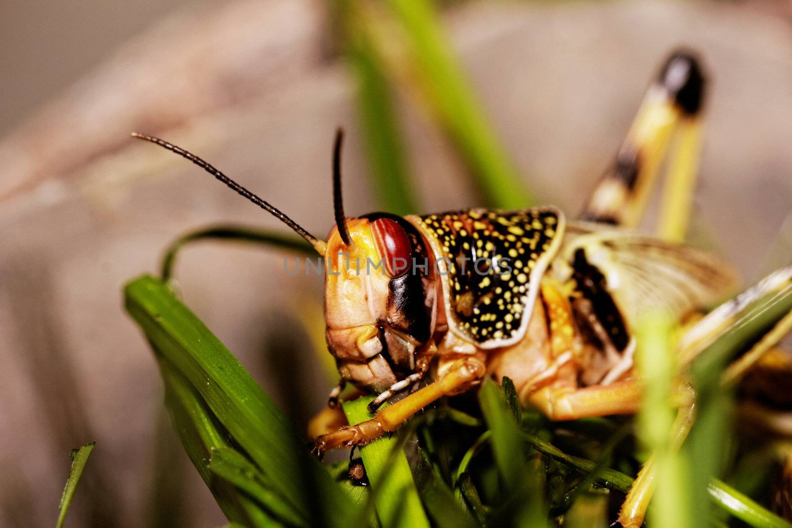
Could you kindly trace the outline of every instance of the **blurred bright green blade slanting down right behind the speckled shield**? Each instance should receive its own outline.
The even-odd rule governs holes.
[[[516,208],[534,203],[457,63],[432,2],[387,3],[404,30],[419,82],[488,205]]]

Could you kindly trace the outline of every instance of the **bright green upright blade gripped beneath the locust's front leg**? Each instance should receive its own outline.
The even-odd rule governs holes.
[[[359,424],[374,417],[367,409],[373,399],[360,397],[343,402],[350,424]],[[363,458],[377,514],[383,526],[428,528],[429,520],[398,437],[386,437],[361,447],[360,458]]]

